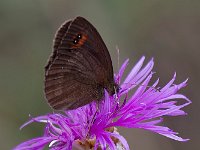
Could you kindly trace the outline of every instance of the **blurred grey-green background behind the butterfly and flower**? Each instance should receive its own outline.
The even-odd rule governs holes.
[[[192,101],[188,116],[164,124],[191,141],[180,143],[138,130],[121,129],[131,150],[196,150],[200,147],[200,1],[199,0],[1,0],[0,1],[0,150],[42,134],[43,125],[20,125],[52,110],[44,99],[44,66],[57,28],[81,15],[100,32],[117,70],[127,57],[132,66],[142,55],[155,58],[163,85],[176,71],[181,92]]]

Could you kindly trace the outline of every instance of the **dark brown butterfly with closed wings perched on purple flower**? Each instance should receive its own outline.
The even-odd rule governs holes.
[[[56,110],[70,110],[93,100],[104,89],[118,91],[110,54],[95,27],[83,17],[65,22],[57,31],[53,54],[45,67],[45,95]]]

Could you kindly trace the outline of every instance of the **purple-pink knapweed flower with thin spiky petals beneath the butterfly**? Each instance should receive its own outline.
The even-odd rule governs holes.
[[[187,141],[179,137],[177,132],[161,126],[164,116],[179,116],[186,113],[181,108],[191,102],[178,91],[186,86],[186,81],[174,84],[176,74],[169,83],[157,88],[159,80],[149,84],[153,72],[153,59],[143,66],[144,57],[133,67],[121,83],[122,75],[128,64],[126,60],[115,75],[120,90],[114,96],[105,91],[100,104],[92,102],[76,110],[53,113],[32,118],[22,127],[32,123],[45,124],[44,134],[26,141],[15,150],[43,149],[51,150],[94,149],[94,150],[129,150],[126,139],[120,135],[116,127],[141,128],[177,141]],[[133,94],[130,91],[135,89]],[[185,102],[178,105],[178,99]]]

